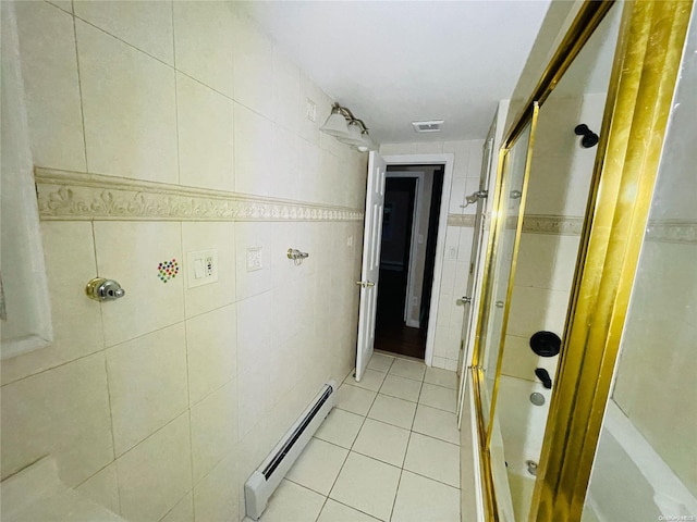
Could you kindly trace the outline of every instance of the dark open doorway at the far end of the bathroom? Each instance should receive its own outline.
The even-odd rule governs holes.
[[[388,165],[376,349],[426,359],[444,166]]]

